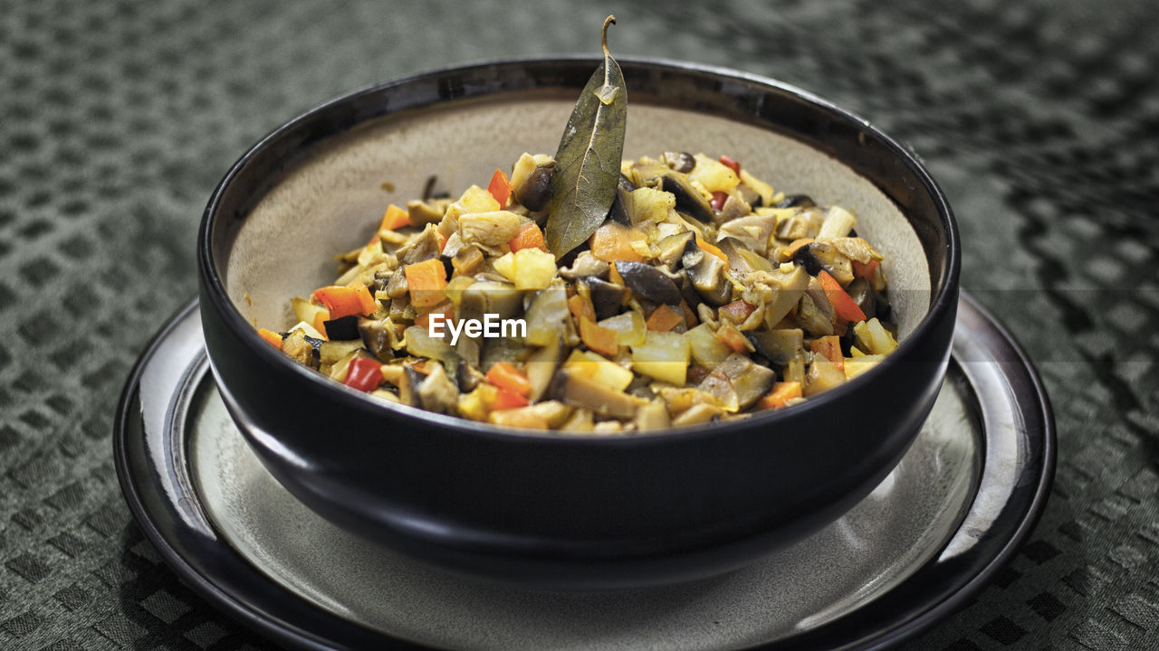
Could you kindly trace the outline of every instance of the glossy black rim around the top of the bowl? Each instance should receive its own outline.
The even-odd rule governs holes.
[[[436,414],[433,411],[428,411],[418,407],[406,405],[401,403],[389,403],[385,401],[377,401],[363,392],[358,392],[340,382],[335,382],[330,378],[326,378],[318,373],[316,371],[297,364],[280,352],[270,349],[270,345],[265,343],[261,336],[257,334],[250,324],[246,321],[239,309],[235,307],[233,301],[229,299],[228,293],[225,290],[225,284],[223,281],[223,276],[218,271],[218,261],[213,255],[213,241],[212,235],[216,229],[217,222],[223,220],[224,217],[220,215],[220,205],[224,202],[226,192],[231,189],[234,181],[241,175],[241,173],[258,159],[263,152],[271,147],[279,139],[287,137],[293,133],[294,130],[302,124],[309,122],[311,119],[318,117],[327,111],[335,110],[343,104],[355,101],[360,97],[372,96],[378,93],[392,88],[400,88],[424,80],[439,79],[450,74],[467,74],[471,72],[478,72],[486,68],[494,67],[520,67],[529,65],[575,65],[581,63],[590,63],[593,67],[599,65],[602,59],[595,56],[588,54],[563,54],[563,56],[530,56],[530,57],[511,57],[511,58],[500,58],[500,59],[484,59],[478,61],[468,61],[461,64],[453,64],[449,66],[440,66],[427,71],[421,71],[411,73],[408,75],[388,79],[385,81],[379,81],[356,88],[353,90],[337,95],[330,100],[318,104],[294,118],[283,123],[278,127],[274,129],[264,137],[258,139],[253,146],[250,146],[228,169],[228,171],[223,176],[221,181],[214,186],[213,192],[206,203],[205,210],[202,213],[201,225],[197,231],[197,268],[198,277],[204,290],[204,295],[210,299],[212,308],[217,310],[219,317],[225,323],[225,326],[232,331],[233,335],[239,336],[242,342],[249,344],[252,349],[256,350],[258,358],[264,358],[267,363],[274,364],[275,366],[280,365],[282,368],[290,373],[297,373],[298,378],[305,379],[306,382],[314,383],[315,390],[321,392],[333,392],[333,398],[344,407],[364,410],[367,407],[373,409],[385,409],[392,412],[393,416],[402,418],[417,418],[420,422],[425,422],[429,425],[455,430],[460,433],[469,433],[472,436],[483,436],[487,438],[496,438],[502,440],[517,439],[522,441],[527,441],[534,439],[537,441],[559,441],[557,445],[599,445],[599,446],[637,446],[637,445],[651,445],[657,440],[669,440],[669,439],[699,439],[701,437],[717,437],[726,433],[736,433],[742,430],[751,430],[755,426],[760,429],[775,427],[779,423],[786,420],[793,420],[796,418],[808,417],[807,415],[814,410],[831,409],[834,403],[843,400],[846,394],[857,389],[858,387],[866,386],[868,382],[874,381],[881,374],[885,372],[888,367],[896,366],[899,364],[901,359],[904,359],[906,353],[919,345],[919,341],[931,336],[931,332],[936,327],[936,321],[940,321],[947,310],[956,308],[957,293],[958,293],[958,279],[961,273],[961,242],[958,239],[957,224],[954,219],[953,210],[949,206],[945,193],[941,188],[934,181],[933,176],[926,169],[925,164],[918,156],[917,152],[912,147],[907,147],[874,126],[868,119],[865,119],[852,111],[839,107],[838,104],[821,97],[814,93],[799,88],[794,85],[778,81],[775,79],[758,75],[744,71],[738,71],[734,68],[728,68],[723,66],[705,65],[692,61],[666,59],[666,58],[651,58],[651,57],[624,57],[618,58],[617,61],[620,64],[621,68],[637,67],[647,70],[657,70],[664,72],[679,73],[685,75],[701,75],[701,76],[713,76],[728,81],[738,81],[748,85],[756,85],[759,87],[765,87],[766,89],[779,92],[821,110],[828,117],[841,122],[845,124],[853,125],[855,129],[877,140],[882,146],[884,146],[894,156],[897,158],[911,174],[920,182],[920,189],[924,190],[931,198],[938,215],[941,219],[941,226],[945,232],[946,240],[946,262],[941,265],[941,272],[936,277],[931,275],[931,280],[934,283],[931,286],[933,295],[930,301],[930,307],[921,320],[914,327],[913,331],[905,337],[905,339],[898,342],[898,348],[892,353],[887,356],[884,360],[869,368],[865,373],[841,383],[838,387],[828,389],[816,396],[812,396],[801,404],[795,404],[786,409],[766,410],[764,412],[751,412],[746,417],[730,418],[713,423],[701,423],[693,425],[677,425],[668,426],[657,430],[646,430],[633,432],[628,436],[608,436],[608,434],[597,434],[591,432],[560,432],[559,430],[533,430],[533,429],[520,429],[520,427],[509,427],[494,425],[491,423],[482,423],[476,420],[471,420],[468,418],[462,418],[459,416],[449,416],[444,414]],[[562,86],[555,85],[549,87]],[[577,89],[578,90],[578,89]],[[363,124],[370,120],[378,120],[388,118],[400,111],[415,110],[422,107],[439,104],[443,102],[457,102],[464,100],[478,100],[487,97],[496,97],[504,93],[526,93],[527,89],[498,89],[498,90],[483,90],[480,93],[466,93],[460,96],[452,98],[437,100],[430,103],[423,103],[418,105],[404,105],[399,109],[388,109],[385,112],[376,114],[372,116],[358,117],[355,124]],[[687,109],[686,109],[687,110]],[[735,119],[731,116],[724,116]],[[767,126],[766,126],[767,127]],[[343,133],[344,131],[335,131],[326,136],[326,138],[333,138]],[[807,140],[794,137],[792,133],[780,132],[780,134],[792,138],[797,142],[806,146],[815,146]],[[838,162],[844,161],[833,156]],[[859,175],[860,176],[860,175]],[[872,182],[870,182],[872,183]],[[877,186],[874,184],[874,186]],[[887,195],[887,198],[888,195]],[[892,199],[891,199],[892,200]],[[901,209],[899,209],[901,210]],[[903,211],[904,214],[904,211]],[[203,307],[204,309],[204,307]],[[948,357],[948,344],[947,344],[947,357]],[[210,366],[213,371],[216,378],[220,378],[217,371],[217,366],[213,363],[212,356],[209,356]],[[219,382],[220,383],[220,382]],[[223,387],[224,390],[228,390]]]

